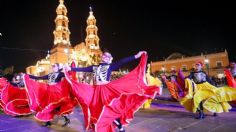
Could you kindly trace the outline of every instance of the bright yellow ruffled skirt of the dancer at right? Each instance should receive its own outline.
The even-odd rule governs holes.
[[[193,113],[201,102],[205,111],[228,112],[232,108],[228,101],[236,100],[236,89],[231,87],[217,88],[208,82],[195,84],[190,79],[185,79],[185,87],[188,88],[188,94],[180,100],[180,104]]]

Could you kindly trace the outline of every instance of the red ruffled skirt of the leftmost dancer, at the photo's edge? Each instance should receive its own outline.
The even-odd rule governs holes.
[[[1,105],[8,115],[29,115],[31,110],[28,105],[28,97],[24,88],[19,88],[7,83],[2,89]]]

